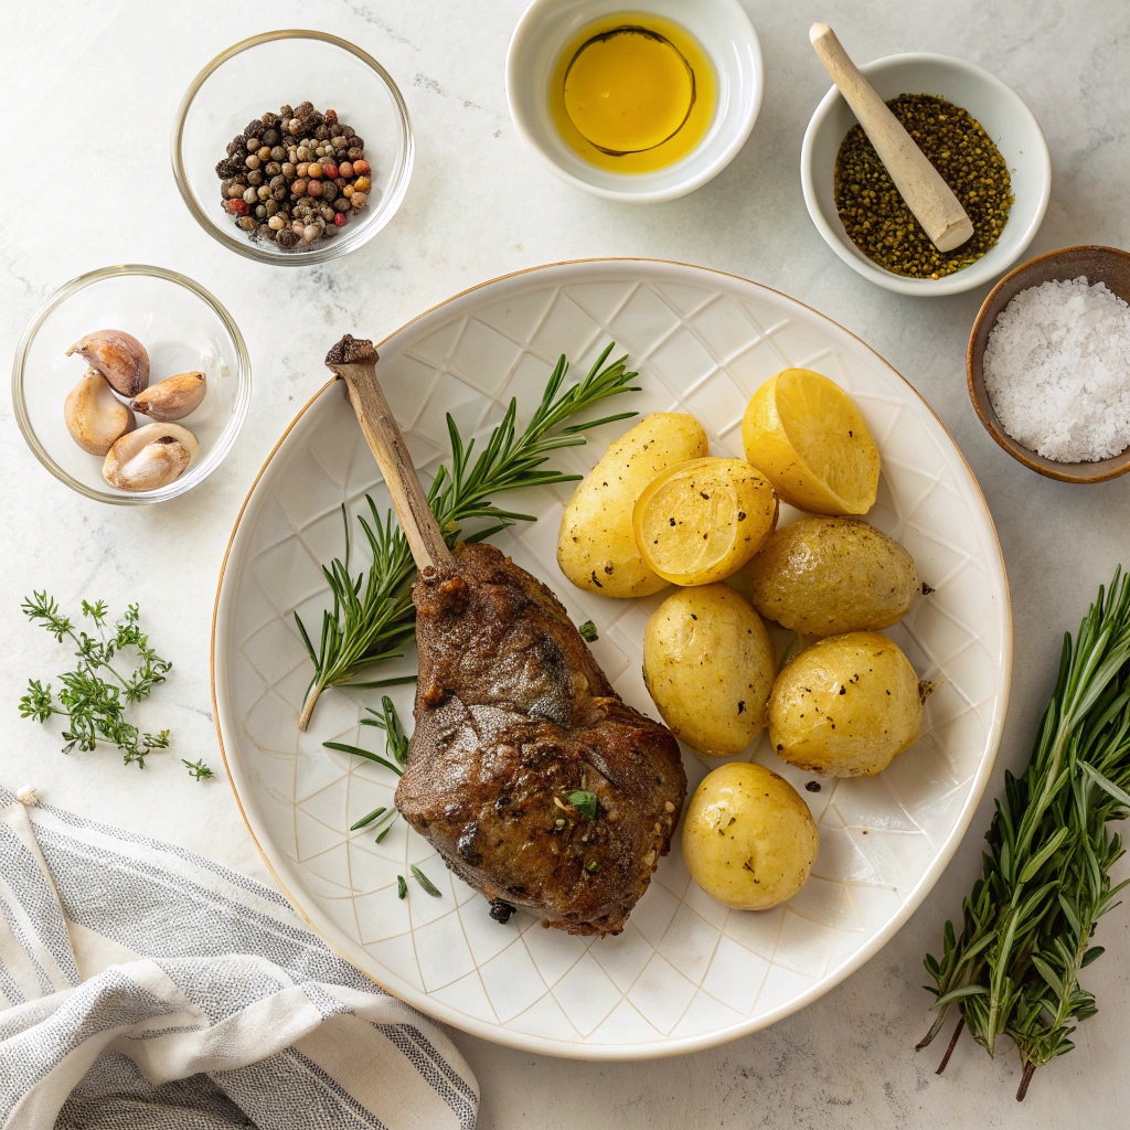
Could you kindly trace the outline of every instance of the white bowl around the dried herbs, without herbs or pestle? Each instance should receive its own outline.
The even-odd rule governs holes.
[[[836,212],[836,154],[855,115],[832,87],[816,107],[800,154],[805,203],[816,229],[849,267],[888,290],[933,297],[972,290],[1008,270],[1032,242],[1048,208],[1052,164],[1035,115],[1020,96],[986,70],[946,55],[888,55],[860,67],[883,98],[933,94],[967,110],[988,131],[1008,164],[1016,202],[994,246],[964,270],[940,279],[912,279],[873,263],[847,237]]]

